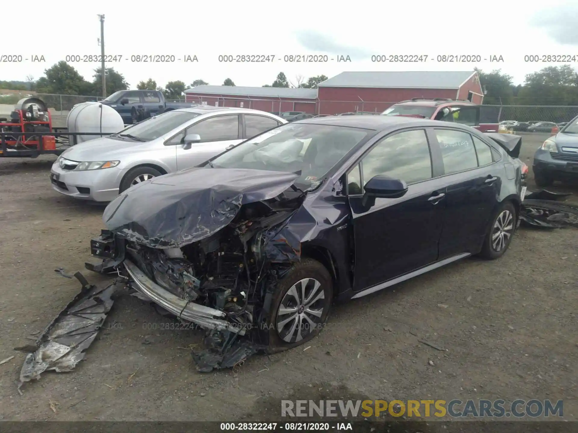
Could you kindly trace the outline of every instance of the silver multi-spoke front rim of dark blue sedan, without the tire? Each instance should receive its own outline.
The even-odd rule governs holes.
[[[277,309],[277,334],[287,343],[301,341],[320,326],[326,305],[320,282],[313,278],[296,282]]]

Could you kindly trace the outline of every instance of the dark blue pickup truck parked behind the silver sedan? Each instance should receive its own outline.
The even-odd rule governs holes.
[[[165,111],[195,106],[192,102],[166,102],[158,90],[119,90],[100,102],[115,109],[126,125]]]

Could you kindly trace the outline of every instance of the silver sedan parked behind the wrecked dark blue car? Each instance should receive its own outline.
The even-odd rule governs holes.
[[[194,167],[287,121],[265,111],[197,107],[167,111],[116,134],[72,146],[50,170],[55,191],[111,201],[162,174]]]

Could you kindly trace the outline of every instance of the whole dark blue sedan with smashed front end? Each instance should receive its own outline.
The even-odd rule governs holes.
[[[411,117],[281,125],[122,193],[87,267],[206,329],[198,369],[232,367],[309,341],[336,300],[501,256],[525,194],[520,146]]]

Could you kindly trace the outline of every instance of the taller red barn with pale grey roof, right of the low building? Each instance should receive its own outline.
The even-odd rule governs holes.
[[[318,114],[350,111],[381,113],[396,102],[412,98],[484,98],[476,72],[342,72],[318,87]]]

